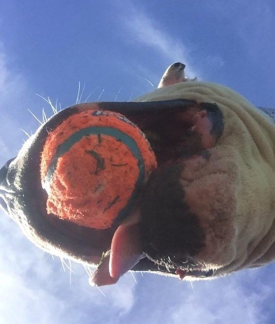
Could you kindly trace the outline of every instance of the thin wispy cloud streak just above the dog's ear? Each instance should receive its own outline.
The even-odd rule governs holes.
[[[200,77],[200,72],[192,63],[191,49],[182,39],[169,34],[153,15],[148,15],[142,5],[132,1],[123,1],[123,4],[114,4],[120,16],[120,22],[125,41],[140,45],[140,48],[150,48],[152,56],[156,56],[159,68],[163,72],[168,65],[174,62],[182,62],[186,65],[185,73],[188,77]],[[150,81],[155,80],[156,72],[150,71],[150,67],[142,67],[140,62],[136,64],[137,71],[143,72]],[[162,70],[161,70],[162,71]],[[144,73],[145,72],[145,73]],[[159,73],[159,71],[157,71]],[[151,78],[152,76],[152,78]],[[161,75],[158,76],[157,84]]]

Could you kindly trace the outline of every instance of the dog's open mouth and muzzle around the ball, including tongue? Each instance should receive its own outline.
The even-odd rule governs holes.
[[[205,270],[184,256],[178,261],[173,252],[164,258],[152,257],[147,251],[152,242],[150,238],[144,239],[148,235],[142,233],[147,232],[144,209],[140,215],[136,208],[119,226],[106,230],[86,228],[47,215],[47,196],[41,188],[39,174],[40,154],[47,134],[68,116],[95,108],[118,111],[137,124],[146,134],[159,167],[177,164],[182,158],[214,146],[223,128],[216,105],[184,99],[82,104],[64,109],[40,127],[15,160],[0,169],[0,205],[42,249],[79,262],[99,264],[93,278],[97,285],[115,283],[128,270],[174,273],[181,279],[212,276],[214,270]]]

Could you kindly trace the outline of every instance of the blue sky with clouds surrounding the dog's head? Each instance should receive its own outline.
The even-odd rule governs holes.
[[[36,93],[65,108],[79,81],[82,101],[129,101],[181,61],[187,76],[275,108],[274,31],[273,0],[2,0],[0,165],[26,139],[21,129],[39,126],[28,109],[51,115]],[[0,323],[275,322],[275,264],[193,286],[128,273],[99,291],[83,267],[39,251],[0,214]]]

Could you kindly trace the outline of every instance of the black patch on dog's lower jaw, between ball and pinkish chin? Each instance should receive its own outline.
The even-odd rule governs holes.
[[[154,170],[141,200],[143,250],[158,263],[169,258],[174,262],[190,259],[204,246],[198,219],[184,202],[180,183],[183,167],[174,164]]]

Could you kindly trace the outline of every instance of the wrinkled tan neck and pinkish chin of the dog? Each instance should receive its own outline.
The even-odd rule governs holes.
[[[180,82],[137,101],[176,98],[216,103],[224,117],[209,161],[200,166],[198,161],[196,170],[190,163],[182,174],[186,202],[207,233],[198,260],[221,274],[274,260],[274,123],[234,90],[215,83]]]

